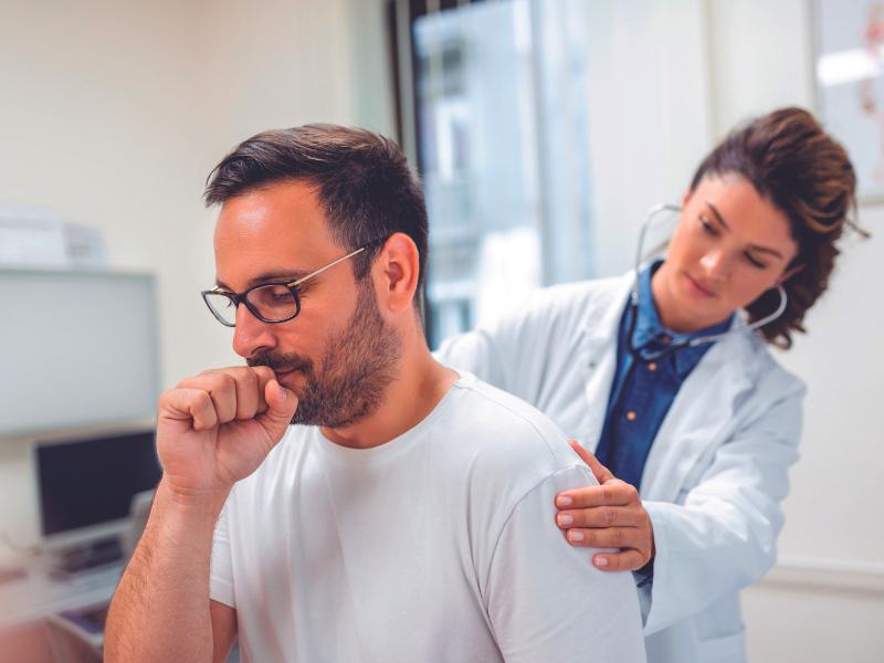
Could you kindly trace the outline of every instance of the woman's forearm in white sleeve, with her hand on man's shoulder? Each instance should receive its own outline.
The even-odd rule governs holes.
[[[568,536],[572,545],[623,549],[596,555],[596,566],[638,570],[650,560],[636,578],[645,634],[757,582],[775,564],[787,472],[798,460],[802,393],[774,403],[725,442],[683,504],[628,499],[634,491],[623,490],[630,486],[594,457],[585,460],[610,490],[592,486],[557,496],[559,526],[583,535]],[[572,520],[562,523],[562,515]],[[600,558],[607,567],[598,565]]]

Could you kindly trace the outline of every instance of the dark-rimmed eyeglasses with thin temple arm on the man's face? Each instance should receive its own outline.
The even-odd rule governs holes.
[[[203,302],[212,312],[215,319],[225,327],[236,326],[236,308],[240,304],[245,304],[245,307],[260,319],[262,323],[285,323],[292,318],[297,317],[301,313],[301,297],[297,294],[298,287],[305,281],[318,276],[326,270],[330,270],[336,264],[358,255],[362,251],[381,243],[383,240],[370,242],[357,249],[352,253],[332,261],[324,267],[319,267],[315,272],[311,272],[306,276],[297,281],[271,281],[269,283],[259,283],[253,285],[246,291],[241,293],[229,293],[218,287],[210,291],[202,291]]]

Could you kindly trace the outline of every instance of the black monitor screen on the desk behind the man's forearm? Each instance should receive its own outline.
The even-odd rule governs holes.
[[[159,482],[154,431],[41,443],[36,473],[43,536],[120,520]]]

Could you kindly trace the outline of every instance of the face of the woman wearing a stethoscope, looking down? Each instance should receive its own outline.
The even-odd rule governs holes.
[[[652,290],[663,324],[695,332],[720,323],[793,272],[786,214],[738,175],[709,176],[682,200],[682,215]]]

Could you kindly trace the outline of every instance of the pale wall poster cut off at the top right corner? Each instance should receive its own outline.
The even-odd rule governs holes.
[[[814,24],[823,123],[850,152],[860,200],[884,202],[884,0],[815,0]]]

